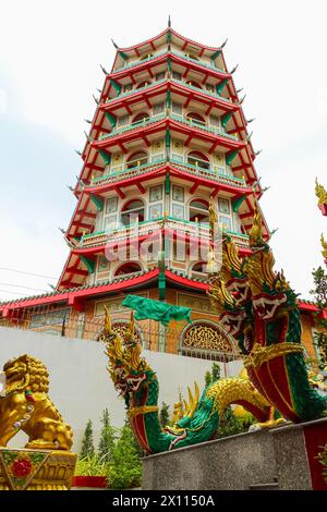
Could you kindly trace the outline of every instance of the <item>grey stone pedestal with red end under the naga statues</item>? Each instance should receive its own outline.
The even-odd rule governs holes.
[[[143,489],[327,490],[316,459],[326,442],[324,418],[149,455],[143,460]]]

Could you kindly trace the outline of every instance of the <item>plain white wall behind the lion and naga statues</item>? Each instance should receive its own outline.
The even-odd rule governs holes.
[[[117,397],[109,374],[105,345],[96,341],[61,338],[40,332],[0,327],[0,369],[13,357],[29,354],[45,363],[50,374],[50,398],[64,420],[74,431],[74,450],[80,451],[81,440],[88,418],[93,420],[95,443],[98,442],[100,417],[109,409],[112,424],[124,422],[124,402]],[[203,388],[204,375],[211,362],[178,355],[143,351],[143,355],[157,371],[161,402],[170,404],[178,400],[179,391],[186,397],[196,380]],[[234,376],[242,364],[233,362],[221,367],[221,375]],[[12,447],[22,447],[25,435],[17,435]]]

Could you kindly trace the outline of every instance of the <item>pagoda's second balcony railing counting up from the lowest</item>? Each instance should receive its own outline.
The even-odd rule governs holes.
[[[237,178],[233,175],[216,172],[211,169],[211,167],[209,167],[208,169],[204,169],[199,166],[194,166],[189,162],[178,161],[174,159],[170,159],[168,161],[164,158],[153,162],[144,163],[142,166],[136,166],[131,169],[125,169],[120,172],[112,172],[111,174],[104,174],[101,176],[94,178],[90,181],[90,184],[85,187],[85,190],[90,190],[92,192],[95,192],[95,188],[100,190],[105,185],[118,183],[122,180],[130,180],[133,178],[142,176],[162,167],[179,169],[183,172],[186,172],[187,174],[214,181],[219,183],[220,185],[228,185],[237,188],[247,187],[246,182],[243,178]]]

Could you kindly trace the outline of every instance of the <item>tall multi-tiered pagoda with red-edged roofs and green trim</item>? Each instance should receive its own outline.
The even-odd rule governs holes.
[[[129,312],[121,303],[136,294],[192,308],[193,324],[181,328],[138,322],[145,348],[233,356],[233,340],[206,296],[209,204],[246,254],[262,188],[235,69],[227,66],[222,48],[194,42],[170,26],[145,42],[117,48],[95,98],[58,288],[0,304],[2,322],[55,333],[64,326],[69,336],[95,339],[92,326],[98,319],[100,329],[104,306],[124,329]],[[268,240],[265,222],[263,228]],[[311,356],[314,309],[301,303]]]

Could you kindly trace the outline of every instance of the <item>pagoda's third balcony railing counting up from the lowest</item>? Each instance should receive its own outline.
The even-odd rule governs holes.
[[[166,110],[166,112],[160,113],[158,115],[152,115],[150,118],[145,118],[142,121],[137,121],[136,123],[132,123],[126,126],[116,127],[114,130],[112,130],[112,132],[100,135],[98,139],[105,141],[110,137],[114,137],[116,135],[119,135],[121,133],[130,132],[132,130],[142,127],[142,126],[148,126],[149,124],[157,123],[158,121],[161,121],[164,119],[172,119],[173,121],[178,121],[179,123],[186,124],[187,126],[194,126],[198,130],[203,130],[204,132],[209,132],[215,135],[220,135],[221,137],[231,138],[232,141],[238,141],[237,135],[231,135],[230,133],[225,132],[220,126],[208,126],[206,124],[202,124],[197,121],[194,121],[193,119],[184,118],[182,115],[178,115],[175,113],[169,112],[168,109]]]

